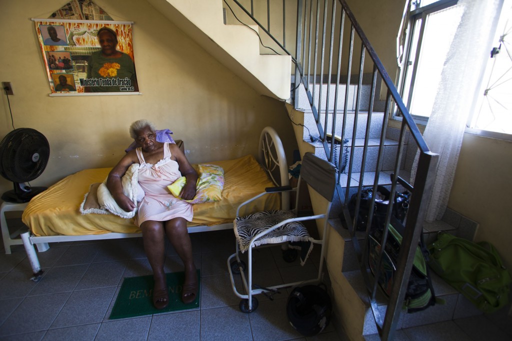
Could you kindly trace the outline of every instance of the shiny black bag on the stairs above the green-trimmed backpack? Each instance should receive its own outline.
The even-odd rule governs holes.
[[[361,203],[359,207],[359,215],[357,216],[357,231],[366,231],[368,224],[368,214],[370,212],[370,202],[373,196],[373,187],[363,188],[361,191]],[[392,215],[403,224],[409,208],[409,200],[411,194],[408,191],[403,193],[395,192],[395,200],[393,204]],[[375,207],[373,209],[373,219],[371,230],[377,227],[383,227],[388,211],[390,192],[384,186],[377,186],[377,197],[375,198]],[[354,194],[348,203],[350,217],[353,219],[355,215],[355,205],[357,201],[357,193]]]

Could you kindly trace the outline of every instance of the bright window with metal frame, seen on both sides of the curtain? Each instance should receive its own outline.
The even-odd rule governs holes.
[[[512,33],[509,32],[512,18],[506,20],[511,2],[505,0],[496,26],[496,48],[493,58],[489,58],[478,95],[481,98],[467,124],[479,131],[512,134],[512,48],[508,43],[512,36],[507,36]],[[405,27],[399,37],[404,52],[399,56],[402,59],[398,90],[419,124],[426,124],[432,112],[446,54],[462,15],[457,3],[457,0],[409,0],[406,5]]]

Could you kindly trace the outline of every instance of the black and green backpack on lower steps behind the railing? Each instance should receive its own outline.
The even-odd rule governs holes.
[[[394,274],[397,267],[398,253],[400,252],[404,229],[404,226],[398,219],[391,217],[378,279],[380,288],[388,297],[391,295],[391,289],[393,287]],[[383,228],[378,227],[374,229],[369,236],[368,263],[372,274],[376,272],[382,234]],[[428,260],[429,251],[425,246],[423,236],[421,236],[420,243],[416,247],[413,268],[409,276],[406,296],[402,306],[408,313],[424,310],[437,302],[429,267],[427,266]]]

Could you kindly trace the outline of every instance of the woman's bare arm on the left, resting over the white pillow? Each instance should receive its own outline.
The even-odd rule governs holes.
[[[121,178],[126,173],[128,168],[137,162],[137,154],[135,150],[127,153],[123,158],[117,163],[117,165],[112,168],[110,171],[108,178],[106,178],[106,188],[109,189],[110,194],[116,201],[116,203],[126,212],[131,212],[135,209],[135,203],[130,200],[130,198],[126,197],[123,193],[123,187],[121,184]]]

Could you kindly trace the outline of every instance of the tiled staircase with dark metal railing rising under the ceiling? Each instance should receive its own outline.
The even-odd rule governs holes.
[[[448,224],[450,217],[446,219],[447,222],[435,226],[423,224],[424,202],[429,195],[432,169],[437,162],[436,155],[430,153],[393,82],[358,27],[345,0],[297,0],[292,8],[286,8],[286,13],[292,12],[297,16],[295,24],[300,23],[296,28],[298,38],[295,41],[292,39],[292,44],[277,41],[272,36],[269,25],[264,26],[258,21],[252,10],[252,1],[250,8],[246,4],[248,1],[244,3],[247,8],[237,0],[226,1],[231,7],[238,6],[235,12],[245,13],[253,22],[247,27],[224,25],[222,0],[148,0],[256,91],[278,100],[287,100],[286,109],[295,123],[293,129],[300,154],[313,152],[338,167],[339,184],[329,220],[331,228],[326,255],[335,306],[335,323],[353,340],[377,333],[382,339],[392,339],[396,329],[479,314],[461,295],[437,278],[434,279],[436,295],[444,299],[445,305],[436,305],[414,314],[400,311],[403,289],[407,286],[420,234],[425,232],[425,240],[430,241],[442,229],[449,229],[469,238],[472,233],[467,230],[459,231],[459,226]],[[280,0],[279,3],[284,7],[285,3],[288,6],[291,2]],[[271,6],[275,5],[269,5]],[[336,6],[342,8],[342,17],[335,18],[335,14],[340,12],[333,10]],[[282,13],[280,15],[285,17]],[[326,18],[330,15],[332,27],[327,29],[326,35]],[[270,9],[267,17],[270,22]],[[318,40],[312,38],[315,34],[314,24],[316,33],[321,32],[324,25],[324,36]],[[339,57],[336,64],[337,52],[333,48],[326,48],[326,40],[330,38],[330,46],[334,47],[334,32],[338,32],[336,38],[339,38],[343,36],[343,32],[337,30],[342,28],[347,29],[351,37],[348,43],[344,42],[345,45],[341,42],[339,44],[343,45],[344,50],[348,50],[349,55],[345,69],[340,71],[342,57]],[[266,34],[263,41],[273,40],[281,48],[279,52],[284,51],[285,55],[260,54],[260,41],[253,30],[262,36]],[[287,34],[283,25],[280,35],[287,37],[294,34]],[[357,56],[354,50],[357,50],[358,44],[360,53]],[[295,50],[293,55],[287,51],[290,50],[290,45]],[[318,64],[316,59],[311,59],[313,55],[321,56]],[[366,55],[369,56],[367,61]],[[356,57],[353,60],[353,56],[359,60]],[[367,66],[368,60],[371,63],[370,68]],[[295,75],[290,81],[292,62]],[[334,81],[324,81],[327,79]],[[383,100],[379,96],[381,84],[387,91]],[[389,126],[387,119],[395,108],[402,117],[398,127]],[[338,142],[329,135],[338,136]],[[348,142],[342,142],[345,139]],[[409,184],[411,167],[417,153],[418,171],[414,183]],[[365,261],[368,233],[355,231],[353,226],[356,222],[348,216],[345,205],[353,194],[360,193],[365,186],[376,188],[377,185],[388,186],[392,195],[395,191],[403,191],[405,188],[412,190],[414,187],[407,231],[403,236],[399,255],[399,268],[395,274],[397,280],[390,299],[383,297],[374,281],[365,275],[365,271],[368,271]],[[314,205],[315,203],[313,208]],[[388,219],[389,215],[390,212]],[[342,226],[340,217],[344,218],[347,226]],[[386,233],[383,238],[386,238]]]

